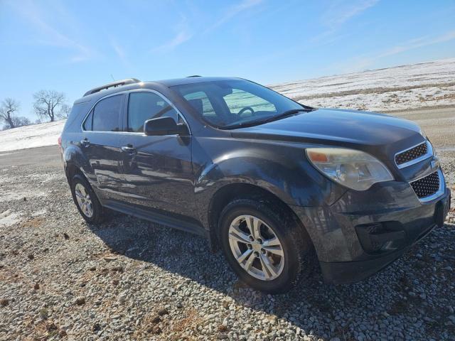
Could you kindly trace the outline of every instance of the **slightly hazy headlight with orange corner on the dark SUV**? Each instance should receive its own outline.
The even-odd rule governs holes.
[[[368,190],[373,183],[393,180],[377,158],[346,148],[307,148],[306,156],[324,175],[353,190]]]

